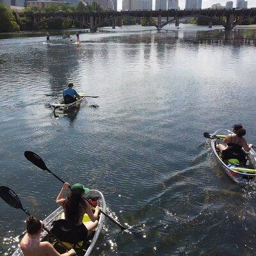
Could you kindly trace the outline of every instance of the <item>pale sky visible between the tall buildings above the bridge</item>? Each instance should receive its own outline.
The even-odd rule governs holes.
[[[155,7],[155,0],[153,1],[153,10]],[[226,2],[228,0],[202,0],[202,8],[209,8],[212,6],[212,4],[220,3],[221,5],[226,5]],[[236,1],[237,0],[231,0],[234,2],[234,7],[236,7]],[[179,6],[180,9],[185,8],[185,2],[186,0],[179,0]],[[248,8],[256,7],[256,0],[248,0]],[[117,10],[122,10],[122,0],[117,0]]]

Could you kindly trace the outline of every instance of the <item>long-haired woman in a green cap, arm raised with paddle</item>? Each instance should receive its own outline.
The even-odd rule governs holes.
[[[76,225],[77,236],[81,237],[81,239],[77,238],[77,240],[84,241],[84,237],[87,237],[98,225],[99,206],[95,207],[95,212],[93,213],[90,204],[83,199],[84,193],[86,194],[90,190],[79,183],[74,184],[71,187],[71,193],[68,193],[67,198],[64,198],[64,193],[69,188],[70,185],[65,182],[56,198],[56,203],[63,207],[65,220]],[[86,222],[84,225],[83,216],[85,213],[88,214],[91,221]]]

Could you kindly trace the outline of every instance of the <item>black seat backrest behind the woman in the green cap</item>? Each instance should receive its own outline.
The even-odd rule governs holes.
[[[81,230],[77,228],[68,220],[56,220],[52,223],[51,232],[56,236],[60,241],[76,244],[79,241],[86,241],[87,232],[86,229]]]

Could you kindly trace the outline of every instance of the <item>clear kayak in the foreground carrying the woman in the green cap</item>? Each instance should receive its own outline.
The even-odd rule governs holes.
[[[98,205],[100,207],[100,209],[102,209],[102,211],[106,211],[106,202],[104,199],[104,196],[102,195],[102,193],[100,191],[97,190],[90,190],[90,192],[86,195],[86,197],[99,197],[99,199],[97,200]],[[44,220],[44,224],[45,227],[47,227],[49,230],[51,230],[51,225],[53,223],[53,221],[59,220],[61,218],[64,217],[64,212],[63,212],[63,207],[59,207],[58,209],[56,209],[54,212],[52,212],[45,220]],[[86,252],[82,251],[81,248],[74,248],[77,252],[77,255],[79,256],[89,256],[91,255],[93,248],[95,247],[95,244],[97,243],[97,240],[99,239],[100,233],[102,231],[103,228],[103,224],[104,224],[104,215],[100,214],[99,217],[99,223],[97,225],[97,228],[95,228],[95,232],[93,232],[93,236],[90,237],[90,240],[88,241],[88,243],[86,244],[86,248],[83,248]],[[87,221],[90,221],[90,218],[87,214],[84,214],[83,217],[83,222],[86,223]],[[51,239],[49,239],[49,235],[47,235],[47,232],[42,232],[42,236],[40,237],[41,241],[50,241],[51,243]],[[54,246],[53,243],[54,240],[52,240],[52,245]],[[69,243],[64,243],[68,248],[72,248],[72,246]],[[54,246],[54,248],[59,252],[59,253],[65,253],[65,249],[63,248],[63,246]],[[64,251],[63,251],[64,250]],[[17,248],[17,250],[15,250],[15,252],[12,254],[12,256],[22,256],[23,253],[21,251],[20,248]]]

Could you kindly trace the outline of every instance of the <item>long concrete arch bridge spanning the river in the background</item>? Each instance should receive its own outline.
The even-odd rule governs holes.
[[[179,26],[179,19],[185,17],[198,17],[209,20],[209,28],[212,27],[212,22],[219,24],[225,28],[226,31],[232,30],[235,26],[241,24],[244,20],[250,17],[256,17],[256,8],[251,9],[231,9],[231,10],[158,10],[158,11],[101,11],[101,12],[72,12],[66,13],[63,11],[47,12],[47,13],[26,13],[30,17],[33,24],[33,29],[38,28],[43,22],[50,20],[65,20],[72,19],[81,24],[82,28],[90,28],[93,33],[98,28],[106,26],[111,23],[115,28],[116,20],[118,19],[145,19],[147,23],[155,26],[157,30],[161,30],[164,26],[171,22],[175,22]],[[151,18],[156,18],[153,22]],[[162,22],[162,17],[165,17]]]

